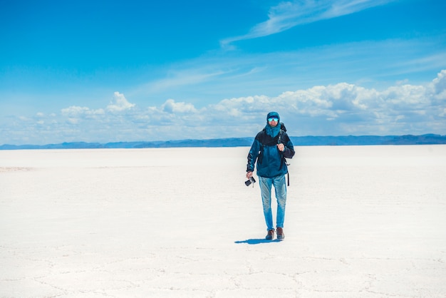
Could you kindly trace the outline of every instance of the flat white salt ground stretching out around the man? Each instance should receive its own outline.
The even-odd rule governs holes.
[[[446,297],[446,145],[0,151],[0,297]]]

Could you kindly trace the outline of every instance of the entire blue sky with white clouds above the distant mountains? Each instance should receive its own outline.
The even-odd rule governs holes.
[[[0,144],[446,134],[446,1],[0,0]]]

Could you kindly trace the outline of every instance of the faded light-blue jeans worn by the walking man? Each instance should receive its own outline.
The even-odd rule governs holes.
[[[274,178],[259,177],[259,185],[267,229],[274,229],[273,213],[271,210],[271,187],[273,185],[277,200],[276,227],[284,227],[286,205],[285,175]]]

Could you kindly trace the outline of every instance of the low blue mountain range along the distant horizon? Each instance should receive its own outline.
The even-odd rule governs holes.
[[[428,145],[446,144],[446,135],[347,135],[290,137],[296,146],[316,145]],[[248,147],[254,138],[219,138],[209,140],[168,140],[118,143],[61,143],[48,145],[0,145],[0,150],[88,149],[88,148],[180,148],[180,147]]]

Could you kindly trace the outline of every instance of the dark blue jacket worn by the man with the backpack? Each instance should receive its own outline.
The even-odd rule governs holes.
[[[248,153],[247,172],[254,172],[254,164],[257,161],[257,175],[260,177],[274,178],[288,173],[285,158],[293,158],[294,145],[286,134],[285,125],[279,125],[281,131],[274,138],[266,133],[265,128],[257,133]],[[285,145],[283,152],[277,148],[279,143]]]

